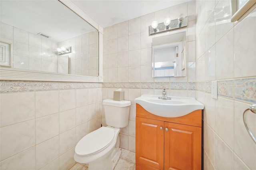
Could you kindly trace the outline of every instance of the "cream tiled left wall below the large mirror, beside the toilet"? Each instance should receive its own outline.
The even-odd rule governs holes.
[[[0,81],[0,169],[69,170],[101,123],[101,83]]]

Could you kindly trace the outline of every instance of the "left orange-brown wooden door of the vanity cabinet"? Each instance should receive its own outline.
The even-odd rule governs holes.
[[[136,170],[164,169],[164,122],[136,117]]]

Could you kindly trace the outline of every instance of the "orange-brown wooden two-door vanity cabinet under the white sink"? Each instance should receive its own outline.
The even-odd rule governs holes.
[[[136,104],[136,170],[201,170],[202,110],[153,115]]]

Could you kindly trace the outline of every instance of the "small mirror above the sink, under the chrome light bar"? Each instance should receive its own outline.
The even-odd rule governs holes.
[[[152,38],[152,75],[186,76],[186,32]]]

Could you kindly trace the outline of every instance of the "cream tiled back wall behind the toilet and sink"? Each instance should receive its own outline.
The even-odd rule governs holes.
[[[151,42],[152,38],[156,36],[148,36],[148,26],[154,20],[161,23],[167,17],[174,20],[182,16],[188,16],[188,27],[156,36],[187,32],[187,76],[152,78]],[[164,88],[167,90],[168,96],[195,97],[195,40],[195,1],[186,2],[104,28],[102,99],[113,99],[113,91],[122,88],[125,91],[124,99],[132,102],[129,125],[120,131],[120,146],[122,148],[135,152],[136,103],[134,103],[134,99],[136,97],[142,94],[161,95]]]

